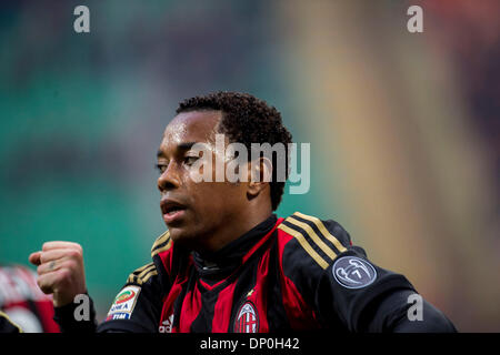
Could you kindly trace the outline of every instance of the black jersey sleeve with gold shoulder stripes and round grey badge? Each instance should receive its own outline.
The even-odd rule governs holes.
[[[376,304],[399,290],[414,292],[403,275],[368,260],[334,221],[296,212],[280,229],[293,235],[283,251],[283,271],[321,327],[367,332]]]

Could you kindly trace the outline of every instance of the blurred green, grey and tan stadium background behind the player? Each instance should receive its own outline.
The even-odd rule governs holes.
[[[90,33],[73,9],[90,9]],[[423,33],[407,9],[423,8]],[[311,143],[296,210],[334,219],[463,332],[500,331],[500,2],[2,1],[0,262],[84,247],[99,320],[163,230],[177,103],[277,106]]]

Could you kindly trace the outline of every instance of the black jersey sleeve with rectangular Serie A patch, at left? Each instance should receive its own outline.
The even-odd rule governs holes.
[[[106,321],[99,325],[99,333],[158,332],[162,298],[170,288],[168,271],[158,254],[166,250],[168,243],[168,234],[157,239],[151,250],[152,262],[130,274],[116,296]]]

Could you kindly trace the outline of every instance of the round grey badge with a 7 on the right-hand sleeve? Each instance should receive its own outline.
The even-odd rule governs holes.
[[[336,281],[347,288],[361,288],[377,278],[377,271],[367,261],[356,256],[342,256],[332,267]]]

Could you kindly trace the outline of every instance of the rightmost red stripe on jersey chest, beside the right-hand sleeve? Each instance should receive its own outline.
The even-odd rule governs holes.
[[[284,246],[293,239],[284,231],[278,230],[278,251],[280,262],[281,295],[284,311],[292,329],[311,329],[317,328],[316,314],[306,303],[296,284],[283,272],[283,251]],[[312,321],[314,320],[314,321]]]

